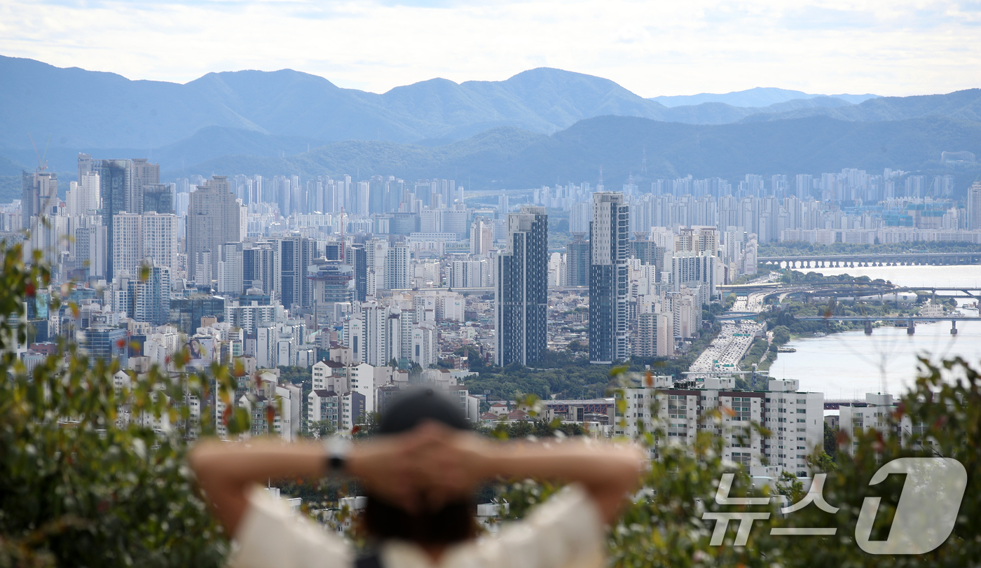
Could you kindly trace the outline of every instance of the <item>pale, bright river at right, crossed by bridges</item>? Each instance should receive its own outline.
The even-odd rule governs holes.
[[[804,272],[867,276],[899,285],[981,285],[978,265],[821,268]],[[951,335],[951,323],[943,322],[917,324],[912,336],[904,328],[882,327],[871,336],[857,330],[795,339],[787,346],[797,352],[780,353],[770,373],[775,379],[799,380],[801,390],[824,392],[829,399],[864,398],[866,392],[901,394],[916,378],[917,355],[933,361],[959,355],[977,365],[981,361],[981,320],[957,322],[956,336]]]

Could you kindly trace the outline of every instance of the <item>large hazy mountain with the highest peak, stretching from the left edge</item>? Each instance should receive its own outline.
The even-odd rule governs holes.
[[[658,118],[663,107],[613,81],[536,69],[504,81],[432,79],[384,94],[290,70],[212,73],[186,84],[129,80],[0,57],[0,148],[160,148],[205,127],[326,141],[464,138],[496,126],[564,129],[583,118]]]

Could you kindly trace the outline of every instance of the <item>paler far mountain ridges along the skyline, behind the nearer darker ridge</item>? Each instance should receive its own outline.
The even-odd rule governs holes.
[[[78,152],[150,158],[168,171],[223,156],[275,160],[342,140],[411,142],[434,148],[438,159],[448,155],[444,146],[464,147],[451,142],[490,129],[553,134],[608,115],[689,125],[812,116],[866,122],[932,115],[981,120],[978,89],[853,105],[841,96],[759,88],[725,95],[735,104],[667,108],[605,78],[546,68],[502,81],[457,84],[435,78],[383,94],[340,88],[323,77],[290,70],[215,73],[178,84],[8,57],[0,57],[0,77],[0,155],[33,164],[27,134],[33,134],[39,150],[51,134],[47,160],[56,172],[74,171]],[[741,106],[747,104],[758,106]],[[496,178],[503,175],[490,177]]]

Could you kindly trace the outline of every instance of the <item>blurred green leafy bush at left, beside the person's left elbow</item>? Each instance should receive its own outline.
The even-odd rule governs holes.
[[[26,330],[13,324],[48,272],[21,254],[6,248],[0,276],[0,313],[13,316],[0,323],[0,566],[221,564],[227,541],[183,463],[192,432],[214,430],[207,412],[191,414],[206,382],[154,368],[117,383],[117,362],[89,368],[64,341],[27,373],[13,350]]]

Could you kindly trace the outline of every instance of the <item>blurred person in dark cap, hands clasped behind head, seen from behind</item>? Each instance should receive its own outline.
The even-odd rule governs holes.
[[[604,524],[636,490],[644,453],[633,446],[497,442],[469,432],[459,407],[432,389],[407,393],[373,439],[248,443],[202,441],[190,452],[214,514],[236,542],[232,566],[283,568],[559,568],[602,566]],[[357,478],[368,493],[361,522],[377,545],[355,551],[298,519],[261,486],[270,479]],[[496,537],[478,540],[473,491],[494,479],[569,485]]]

